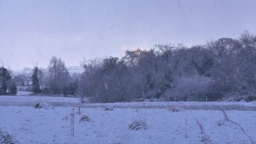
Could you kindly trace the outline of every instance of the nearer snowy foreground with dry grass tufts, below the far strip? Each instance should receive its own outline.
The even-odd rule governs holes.
[[[0,106],[0,109],[1,128],[15,136],[20,143],[203,143],[195,118],[199,119],[213,143],[250,143],[237,125],[217,125],[223,120],[220,111],[139,109],[149,129],[136,131],[128,129],[132,119],[136,118],[135,109],[106,112],[102,108],[82,108],[82,113],[93,122],[79,123],[81,115],[75,114],[75,134],[71,136],[69,119],[62,118],[71,113],[72,107],[46,110],[27,106]],[[228,111],[228,115],[256,140],[255,111]],[[186,117],[188,138],[185,138]]]

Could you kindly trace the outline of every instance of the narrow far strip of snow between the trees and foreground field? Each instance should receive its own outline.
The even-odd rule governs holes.
[[[186,110],[218,110],[219,106],[225,110],[256,111],[256,101],[253,102],[132,102],[132,103],[107,103],[107,104],[81,104],[79,98],[49,97],[49,96],[0,96],[2,106],[34,106],[37,103],[49,103],[53,106],[73,107],[107,107],[132,108],[132,109],[166,109],[166,107],[181,107]]]

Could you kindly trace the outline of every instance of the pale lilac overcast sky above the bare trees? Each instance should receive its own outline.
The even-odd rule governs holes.
[[[0,59],[12,70],[121,57],[155,44],[203,44],[256,32],[252,1],[0,0]]]

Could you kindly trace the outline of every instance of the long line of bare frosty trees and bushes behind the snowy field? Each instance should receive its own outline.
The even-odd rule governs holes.
[[[248,31],[238,39],[220,38],[191,47],[160,44],[149,50],[126,50],[122,58],[86,59],[81,66],[83,74],[71,76],[65,63],[52,57],[44,80],[34,80],[38,79],[34,68],[33,89],[38,90],[33,92],[79,95],[99,103],[256,98],[256,36]]]

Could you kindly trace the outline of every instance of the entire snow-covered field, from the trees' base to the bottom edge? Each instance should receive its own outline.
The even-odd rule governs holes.
[[[49,107],[34,109],[36,103]],[[104,111],[107,106],[114,110]],[[223,121],[218,106],[256,141],[255,103],[80,104],[78,98],[0,96],[0,129],[20,143],[203,143],[197,118],[212,143],[252,143],[237,124]],[[69,114],[78,107],[82,114],[75,113],[72,136]],[[82,115],[91,122],[79,122]],[[139,117],[146,119],[148,129],[130,130],[129,124]]]

